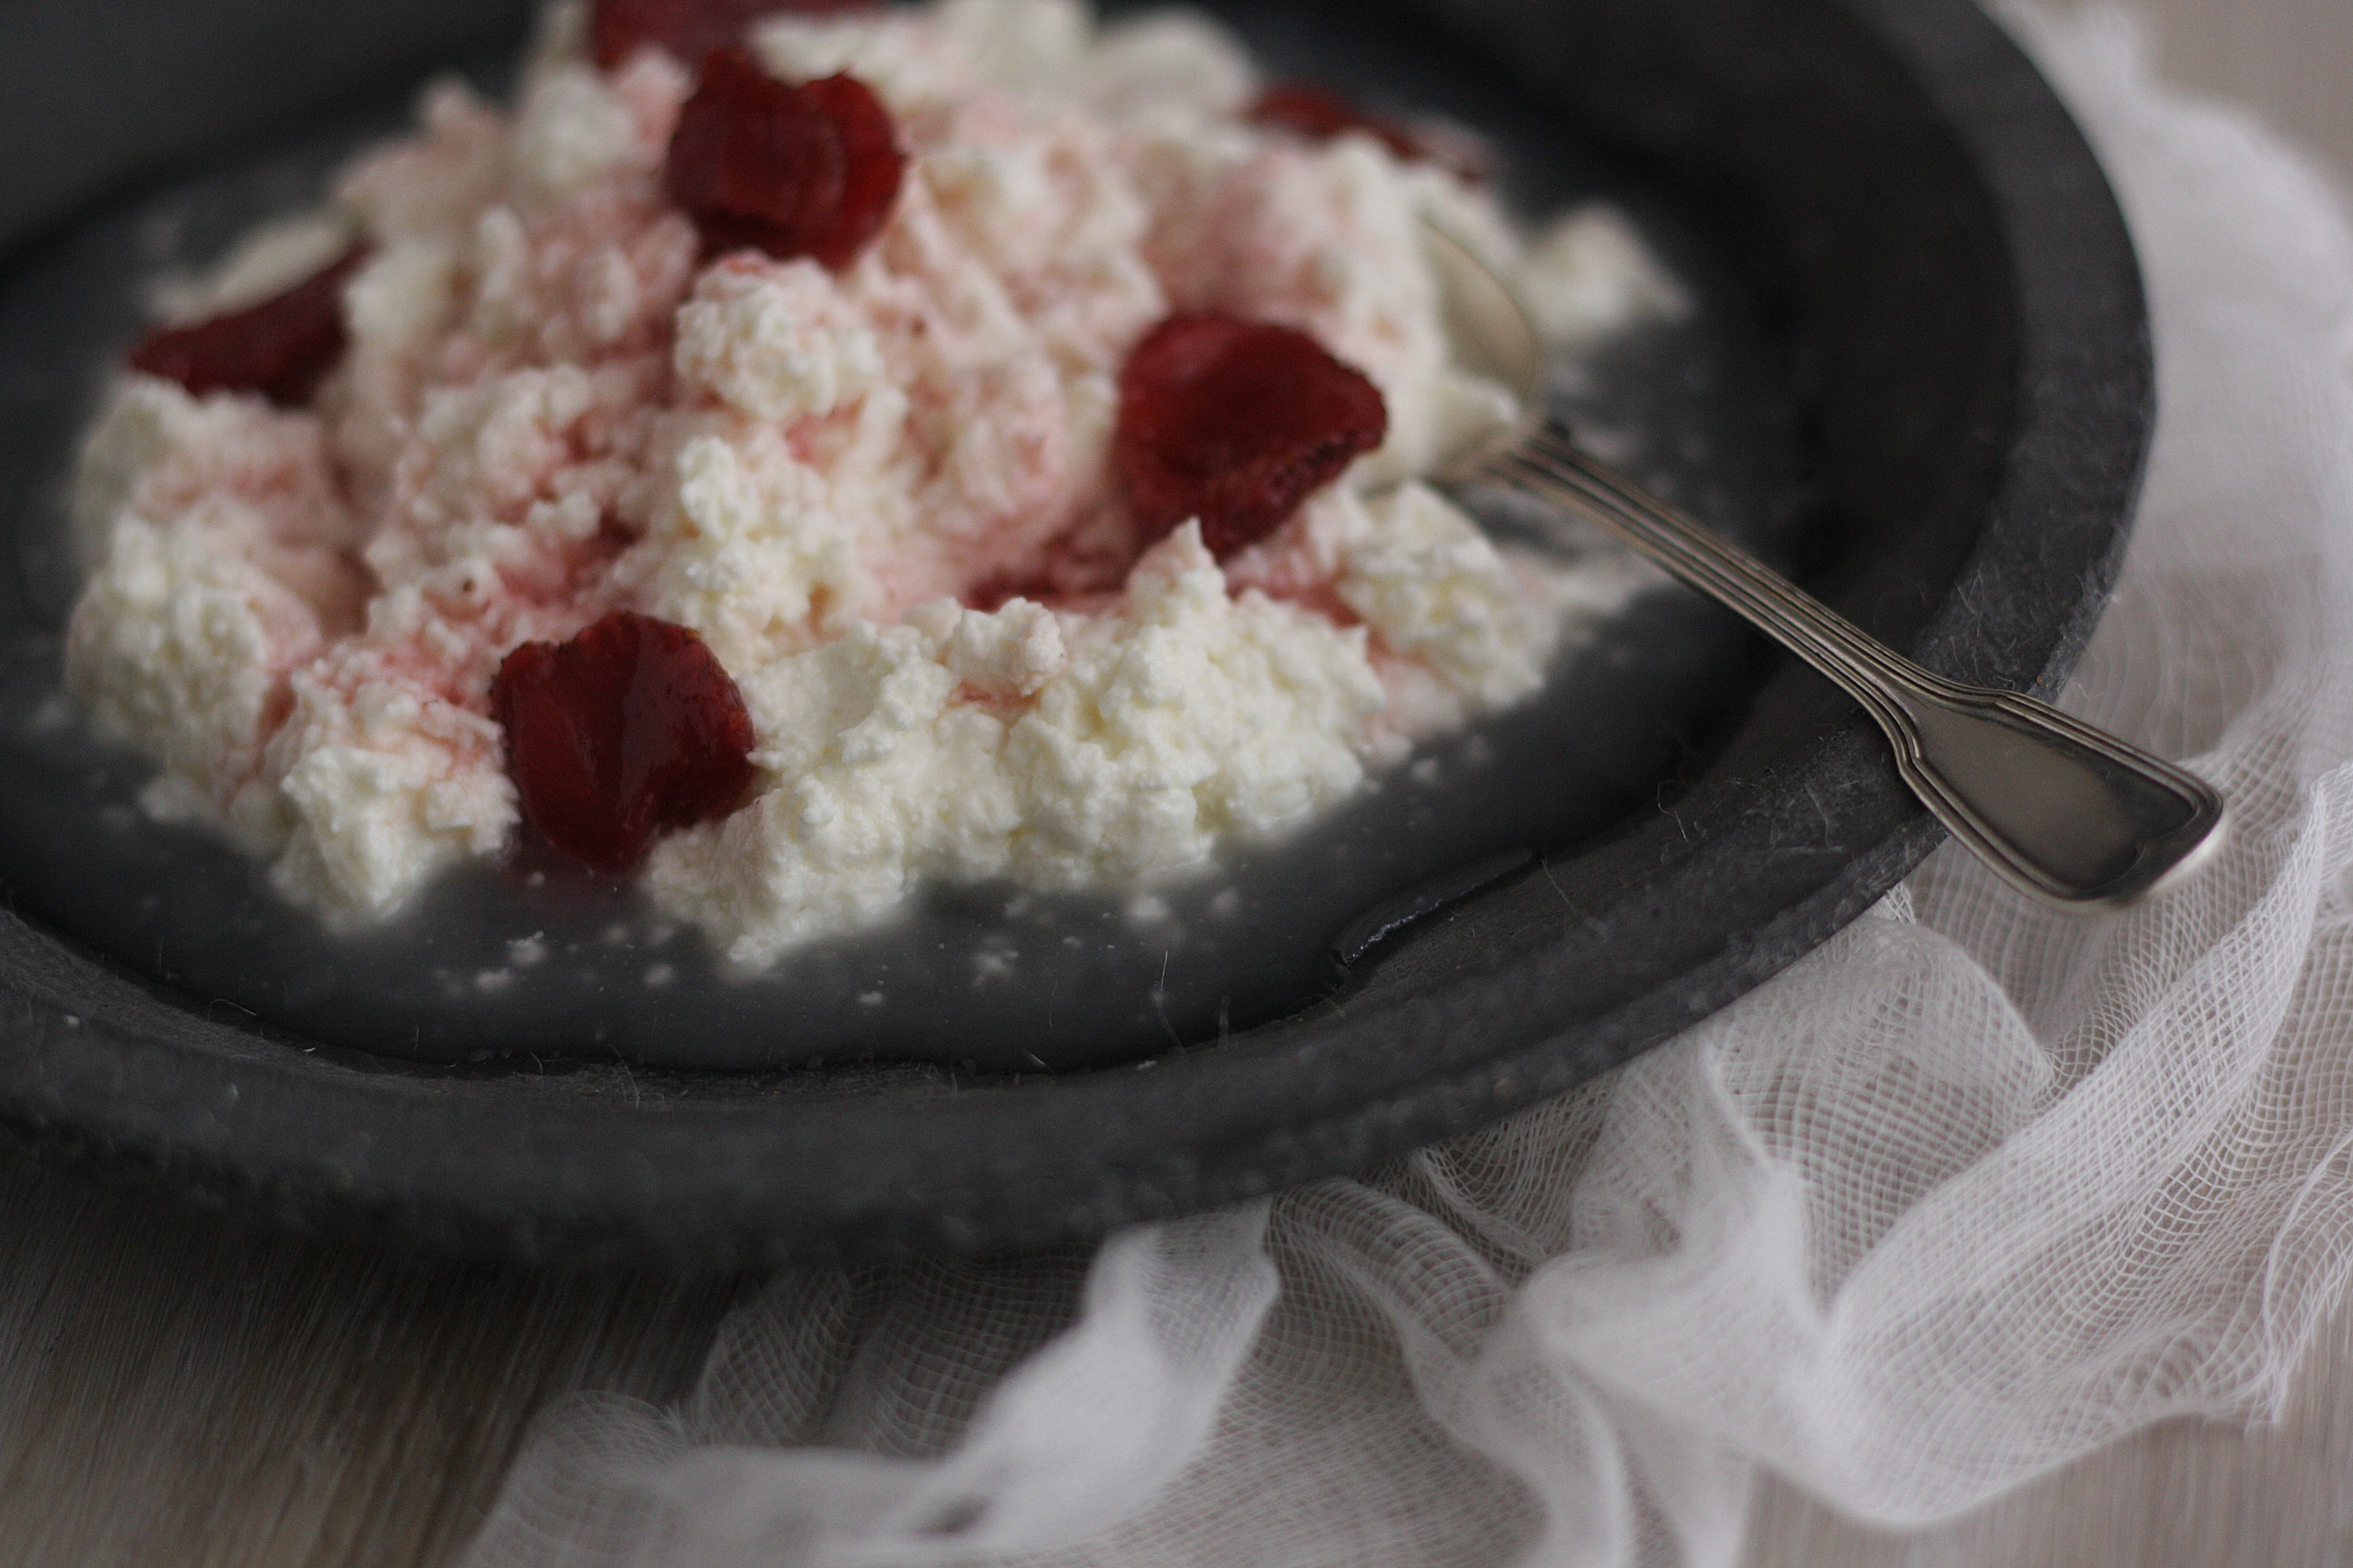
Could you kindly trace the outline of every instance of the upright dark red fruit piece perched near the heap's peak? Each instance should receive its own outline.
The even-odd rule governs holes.
[[[744,49],[704,61],[664,183],[704,252],[814,256],[840,270],[875,237],[906,158],[889,110],[852,75],[793,87]]]

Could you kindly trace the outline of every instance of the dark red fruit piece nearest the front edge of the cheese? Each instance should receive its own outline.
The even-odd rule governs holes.
[[[565,644],[525,642],[489,686],[525,820],[626,877],[656,832],[744,804],[753,731],[744,693],[682,625],[616,609]]]

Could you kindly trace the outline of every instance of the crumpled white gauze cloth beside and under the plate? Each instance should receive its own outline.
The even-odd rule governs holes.
[[[1682,1041],[1379,1180],[776,1279],[682,1408],[553,1408],[466,1563],[1727,1563],[1758,1467],[1913,1526],[2271,1413],[2353,1272],[2353,235],[2115,16],[2021,28],[2160,357],[2068,705],[2226,788],[2221,865],[2078,924],[1941,851]]]

